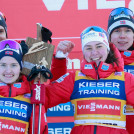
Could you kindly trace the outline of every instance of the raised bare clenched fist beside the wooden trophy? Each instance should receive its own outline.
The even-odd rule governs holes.
[[[58,51],[62,51],[64,54],[65,53],[70,53],[72,51],[72,49],[74,48],[74,43],[71,41],[60,41],[58,46],[57,46],[57,50]]]

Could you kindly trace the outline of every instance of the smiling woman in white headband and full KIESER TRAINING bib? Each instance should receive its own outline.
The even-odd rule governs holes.
[[[124,61],[102,28],[87,27],[81,42],[81,69],[46,86],[46,108],[72,102],[71,134],[128,134],[126,103],[134,104],[134,76],[124,72]]]

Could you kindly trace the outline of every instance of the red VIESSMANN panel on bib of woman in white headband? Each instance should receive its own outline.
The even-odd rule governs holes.
[[[78,114],[120,115],[121,102],[113,100],[84,100],[77,102]]]

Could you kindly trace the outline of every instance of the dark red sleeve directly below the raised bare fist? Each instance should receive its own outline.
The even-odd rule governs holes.
[[[66,59],[55,58],[55,56],[53,56],[51,72],[53,74],[51,82],[58,79],[60,76],[64,75],[67,72]]]

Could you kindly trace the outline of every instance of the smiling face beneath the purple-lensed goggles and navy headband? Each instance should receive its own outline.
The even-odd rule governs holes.
[[[20,65],[16,59],[4,56],[0,60],[0,82],[12,84],[16,82],[20,75]]]

